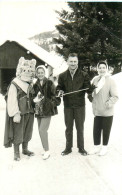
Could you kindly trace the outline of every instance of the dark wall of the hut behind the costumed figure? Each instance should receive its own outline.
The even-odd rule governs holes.
[[[12,78],[15,77],[18,60],[22,56],[28,60],[36,59],[36,66],[45,64],[45,62],[28,52],[27,49],[18,43],[14,41],[5,42],[0,46],[0,93],[5,94],[7,86]]]

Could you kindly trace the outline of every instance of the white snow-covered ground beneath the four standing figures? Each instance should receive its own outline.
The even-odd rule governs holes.
[[[52,117],[49,129],[51,157],[41,157],[37,121],[34,123],[30,149],[35,156],[21,154],[21,161],[13,160],[13,148],[3,147],[5,124],[5,101],[0,95],[0,194],[1,195],[122,195],[122,94],[121,75],[113,77],[119,89],[120,100],[115,107],[114,122],[106,156],[81,156],[76,148],[74,129],[73,152],[61,156],[65,148],[65,125],[63,105],[59,114]],[[93,115],[91,103],[86,99],[85,148],[90,150]]]

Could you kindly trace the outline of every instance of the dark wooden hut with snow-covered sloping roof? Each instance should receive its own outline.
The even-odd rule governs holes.
[[[30,40],[12,39],[6,40],[0,45],[0,93],[6,92],[7,86],[15,77],[16,67],[20,57],[36,59],[37,65],[48,65],[48,75],[56,67],[53,56]]]

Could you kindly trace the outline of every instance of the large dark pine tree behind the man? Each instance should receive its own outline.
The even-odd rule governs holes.
[[[71,12],[57,12],[61,24],[55,42],[57,52],[67,58],[70,52],[78,53],[80,66],[95,66],[107,59],[109,65],[122,61],[122,3],[69,2]],[[61,46],[61,47],[60,47]]]

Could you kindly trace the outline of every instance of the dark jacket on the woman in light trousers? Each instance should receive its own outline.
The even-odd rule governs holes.
[[[42,111],[40,114],[36,114],[38,117],[53,116],[58,113],[57,106],[60,104],[60,98],[56,98],[56,88],[51,80],[44,78],[43,85],[41,86],[39,79],[33,86],[35,95],[40,91],[44,96],[42,103]]]

